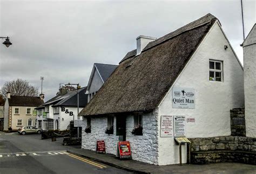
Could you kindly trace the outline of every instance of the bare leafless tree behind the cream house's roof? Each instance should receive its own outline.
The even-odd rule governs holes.
[[[6,98],[6,93],[10,92],[11,95],[19,96],[37,96],[38,87],[29,85],[29,82],[22,79],[6,81],[0,90],[0,94]]]

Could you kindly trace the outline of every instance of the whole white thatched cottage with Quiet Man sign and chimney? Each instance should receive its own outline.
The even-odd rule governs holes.
[[[244,106],[243,81],[242,65],[210,13],[158,39],[139,36],[137,49],[79,113],[83,130],[91,128],[83,131],[82,148],[95,151],[104,140],[106,153],[116,155],[118,141],[129,141],[134,160],[178,164],[174,137],[231,135],[230,109]],[[186,145],[181,151],[186,163]]]

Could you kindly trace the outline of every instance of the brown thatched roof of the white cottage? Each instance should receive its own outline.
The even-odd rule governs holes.
[[[215,20],[208,14],[128,53],[79,116],[157,108]]]

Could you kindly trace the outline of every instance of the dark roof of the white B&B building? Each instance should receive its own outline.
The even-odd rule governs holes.
[[[79,93],[79,107],[85,107],[87,104],[87,94],[85,94],[87,87],[80,88]],[[57,95],[54,98],[43,103],[43,106],[52,105],[57,106],[76,106],[77,107],[77,90],[68,91],[64,95]],[[38,107],[40,108],[40,107]]]

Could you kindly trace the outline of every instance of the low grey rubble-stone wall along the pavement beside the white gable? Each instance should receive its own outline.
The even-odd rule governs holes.
[[[256,164],[256,138],[220,136],[189,138],[191,163],[241,162]]]

